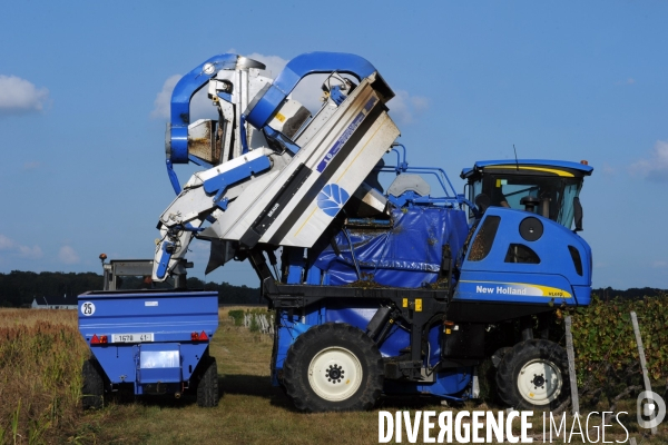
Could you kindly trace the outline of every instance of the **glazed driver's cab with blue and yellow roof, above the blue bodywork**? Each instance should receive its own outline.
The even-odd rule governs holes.
[[[475,162],[462,170],[468,198],[484,212],[490,206],[538,214],[581,230],[580,189],[593,170],[587,161],[520,159]],[[473,212],[470,219],[474,219]]]

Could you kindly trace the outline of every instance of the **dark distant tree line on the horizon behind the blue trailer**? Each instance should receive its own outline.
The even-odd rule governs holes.
[[[124,277],[124,288],[138,289],[140,277]],[[135,283],[136,281],[136,283]],[[188,289],[217,290],[220,304],[257,304],[261,303],[258,288],[234,286],[228,283],[205,283],[197,277],[188,278]],[[100,290],[102,276],[92,271],[21,271],[0,273],[0,307],[28,307],[35,297],[67,295],[77,297],[88,290]]]

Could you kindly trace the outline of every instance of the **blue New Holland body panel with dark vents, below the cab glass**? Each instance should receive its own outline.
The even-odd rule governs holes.
[[[460,267],[454,301],[589,304],[591,250],[536,214],[489,207]]]

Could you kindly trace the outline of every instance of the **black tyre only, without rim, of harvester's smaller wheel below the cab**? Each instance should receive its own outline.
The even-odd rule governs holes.
[[[554,365],[560,375],[557,376],[560,388],[553,394],[553,398],[547,403],[532,403],[522,396],[518,386],[520,372],[531,363],[546,363]],[[570,394],[568,356],[566,350],[553,342],[543,339],[531,339],[518,343],[503,355],[497,370],[497,388],[499,397],[505,404],[515,409],[547,411],[556,409],[566,400]]]

